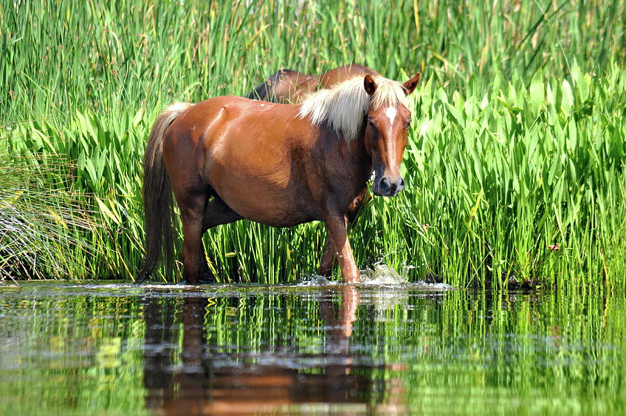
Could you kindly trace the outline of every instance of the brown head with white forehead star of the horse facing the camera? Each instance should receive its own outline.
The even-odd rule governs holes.
[[[409,95],[419,81],[419,72],[406,81],[401,88]],[[402,101],[376,97],[379,86],[369,74],[365,75],[364,87],[372,97],[367,111],[365,148],[374,167],[374,195],[395,196],[404,189],[400,164],[407,143],[411,112]]]

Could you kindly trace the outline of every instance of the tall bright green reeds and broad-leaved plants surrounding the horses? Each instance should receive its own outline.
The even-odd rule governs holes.
[[[358,263],[458,286],[624,286],[625,16],[620,1],[2,0],[0,139],[66,157],[74,180],[49,189],[93,195],[104,227],[81,238],[103,250],[74,275],[131,278],[163,106],[243,95],[279,67],[420,70],[410,186],[361,216]],[[218,279],[280,282],[314,271],[323,227],[242,222],[205,243]]]

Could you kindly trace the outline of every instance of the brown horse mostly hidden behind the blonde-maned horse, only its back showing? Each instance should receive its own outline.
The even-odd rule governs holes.
[[[380,77],[378,72],[356,63],[337,67],[321,75],[307,75],[294,70],[282,69],[276,71],[262,84],[250,91],[248,98],[283,104],[298,104],[319,88],[330,88],[351,78],[364,77],[365,74]]]

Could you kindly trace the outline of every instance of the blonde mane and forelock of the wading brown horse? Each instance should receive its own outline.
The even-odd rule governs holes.
[[[378,88],[371,97],[365,92],[363,77],[320,90],[305,99],[298,115],[309,118],[313,125],[327,122],[344,140],[354,140],[370,106],[377,110],[383,106],[407,105],[406,94],[399,82],[383,77],[376,77],[374,81]]]

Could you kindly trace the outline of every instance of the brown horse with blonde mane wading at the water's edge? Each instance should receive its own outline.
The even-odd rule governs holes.
[[[419,73],[403,84],[366,74],[301,105],[226,96],[169,106],[145,151],[146,257],[138,281],[163,253],[173,263],[173,190],[190,284],[209,278],[202,234],[242,218],[273,227],[324,221],[330,238],[321,269],[336,255],[344,282],[358,282],[348,211],[367,190],[372,170],[375,195],[404,188],[406,95],[417,81]]]

